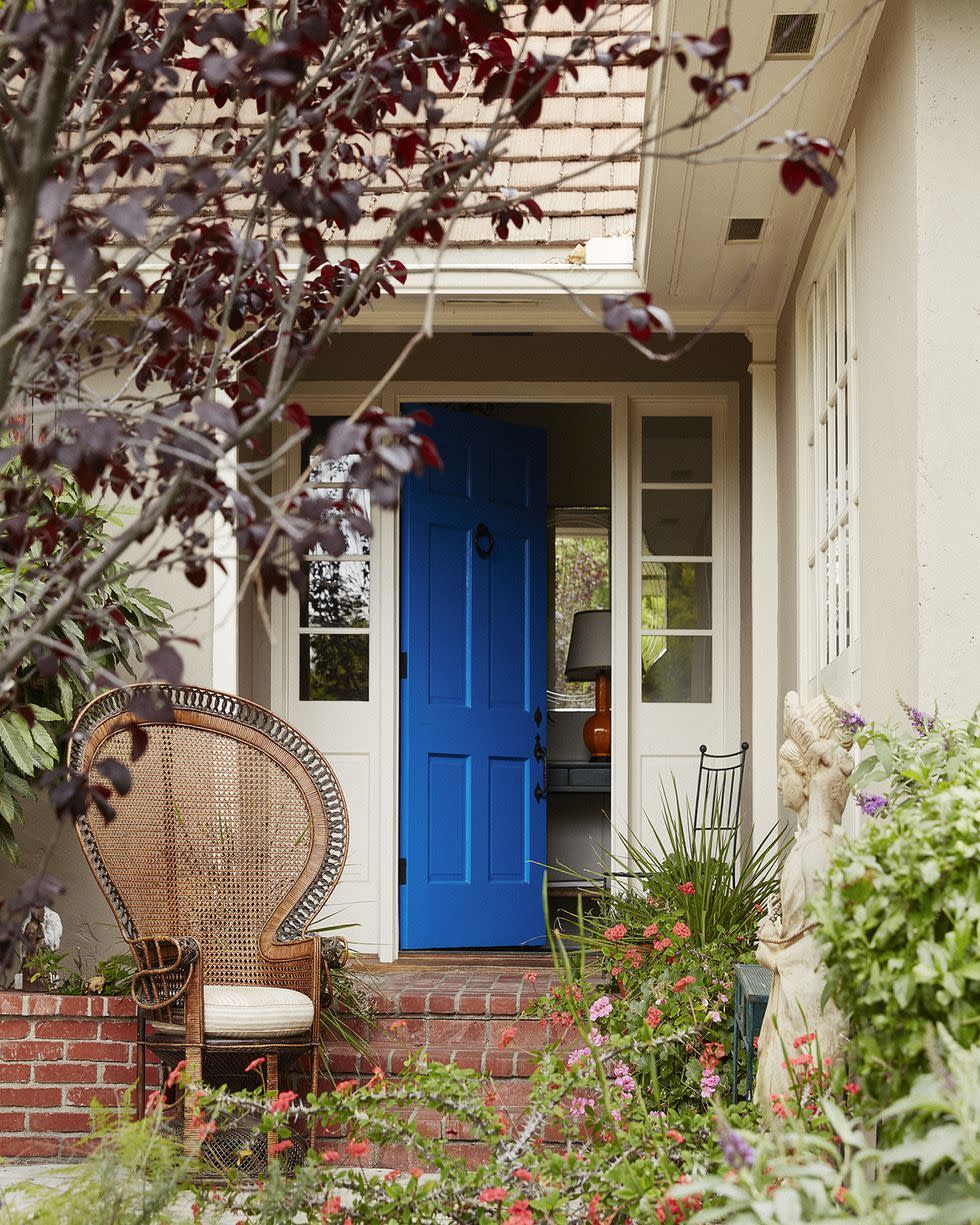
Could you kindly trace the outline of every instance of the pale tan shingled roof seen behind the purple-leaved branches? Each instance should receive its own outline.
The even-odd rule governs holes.
[[[649,31],[648,0],[621,0],[609,6],[597,31],[600,38]],[[519,28],[519,27],[518,27]],[[541,10],[535,20],[535,34],[529,44],[537,51],[559,54],[568,43],[568,17]],[[639,158],[636,153],[616,162],[594,165],[593,159],[608,157],[635,146],[643,123],[647,74],[639,69],[619,67],[610,76],[603,67],[579,70],[578,81],[567,77],[560,92],[546,98],[541,118],[528,129],[516,130],[506,142],[492,173],[485,181],[486,191],[496,194],[502,187],[524,191],[546,187],[538,203],[544,211],[540,222],[528,218],[522,229],[511,228],[503,243],[494,233],[489,218],[462,218],[453,224],[453,247],[568,247],[590,238],[632,236],[636,228]],[[484,107],[477,93],[469,93],[467,75],[462,74],[452,92],[439,85],[445,99],[445,118],[436,136],[445,134],[456,145],[463,135],[479,137],[494,113],[495,105]],[[252,123],[249,125],[249,110]],[[222,114],[229,114],[225,108]],[[153,140],[167,147],[172,157],[207,152],[208,132],[214,115],[207,97],[194,98],[190,88],[175,98],[153,125]],[[258,126],[254,107],[241,110],[245,126]],[[408,114],[394,123],[412,124]],[[162,168],[167,164],[167,156]],[[390,187],[365,194],[366,214],[350,234],[352,243],[370,243],[387,229],[387,222],[375,222],[370,213],[380,206],[392,207],[401,185],[393,176]],[[549,186],[552,185],[552,186]],[[480,198],[478,192],[474,198]],[[229,212],[235,201],[225,198]]]

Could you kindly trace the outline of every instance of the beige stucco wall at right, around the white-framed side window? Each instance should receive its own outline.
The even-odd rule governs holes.
[[[980,9],[888,0],[855,147],[860,698],[876,718],[980,696]],[[800,257],[804,268],[820,218]],[[796,289],[779,322],[780,690],[797,666]]]

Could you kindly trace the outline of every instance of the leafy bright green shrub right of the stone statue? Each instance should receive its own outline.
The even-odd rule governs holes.
[[[980,1041],[980,723],[910,717],[911,739],[859,735],[870,756],[855,788],[878,815],[842,844],[813,907],[827,993],[850,1018],[853,1071],[877,1104],[926,1071],[930,1027]]]

